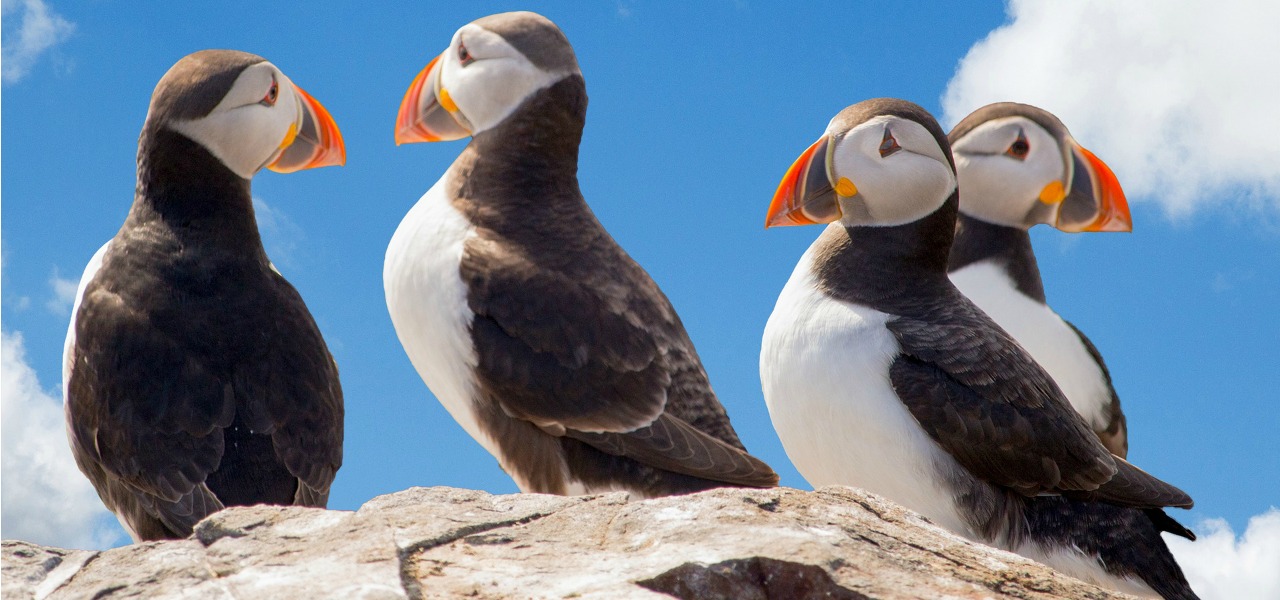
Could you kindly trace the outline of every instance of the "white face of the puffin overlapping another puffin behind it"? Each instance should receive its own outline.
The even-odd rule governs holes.
[[[956,188],[946,155],[928,129],[910,119],[883,115],[844,134],[831,132],[833,182],[858,188],[840,198],[846,225],[902,225],[938,210]],[[892,150],[896,142],[897,148]],[[881,147],[887,146],[882,155]],[[815,157],[814,160],[823,160]],[[838,187],[837,187],[838,189]]]

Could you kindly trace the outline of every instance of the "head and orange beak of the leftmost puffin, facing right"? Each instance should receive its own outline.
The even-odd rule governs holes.
[[[244,179],[264,166],[292,173],[347,161],[329,111],[274,64],[236,50],[174,64],[151,95],[148,128],[191,138]]]

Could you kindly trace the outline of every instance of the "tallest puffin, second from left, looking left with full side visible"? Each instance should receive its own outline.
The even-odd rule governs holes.
[[[387,248],[410,362],[522,491],[777,485],[671,302],[582,197],[585,118],[573,49],[535,13],[463,26],[413,79],[396,142],[471,141]]]

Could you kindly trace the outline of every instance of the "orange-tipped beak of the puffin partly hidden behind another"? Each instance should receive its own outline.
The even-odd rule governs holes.
[[[1071,191],[1062,198],[1053,226],[1070,233],[1132,232],[1129,202],[1116,174],[1074,141],[1070,150],[1074,162]]]

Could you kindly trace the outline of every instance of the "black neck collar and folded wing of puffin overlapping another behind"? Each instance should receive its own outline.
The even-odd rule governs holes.
[[[828,294],[895,316],[901,353],[888,375],[902,403],[974,476],[1020,494],[1189,507],[1181,490],[1112,457],[1048,374],[951,284],[956,203],[952,194],[905,225],[832,226],[818,242]]]

